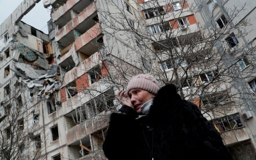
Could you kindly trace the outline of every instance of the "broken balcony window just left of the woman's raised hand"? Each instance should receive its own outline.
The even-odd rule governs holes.
[[[114,107],[114,98],[113,90],[110,89],[87,102],[85,105],[88,108],[89,117],[93,117],[107,109],[112,109]]]

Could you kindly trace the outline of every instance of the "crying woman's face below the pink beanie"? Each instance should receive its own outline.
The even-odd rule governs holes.
[[[133,104],[134,109],[136,112],[140,112],[140,107],[150,99],[154,98],[154,95],[149,91],[145,91],[142,89],[132,89],[129,91],[129,96],[131,98],[131,102]]]

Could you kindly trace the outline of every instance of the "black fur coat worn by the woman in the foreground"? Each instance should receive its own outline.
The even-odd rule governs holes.
[[[103,151],[109,160],[231,160],[213,125],[174,85],[158,91],[149,116],[128,106],[112,113]]]

